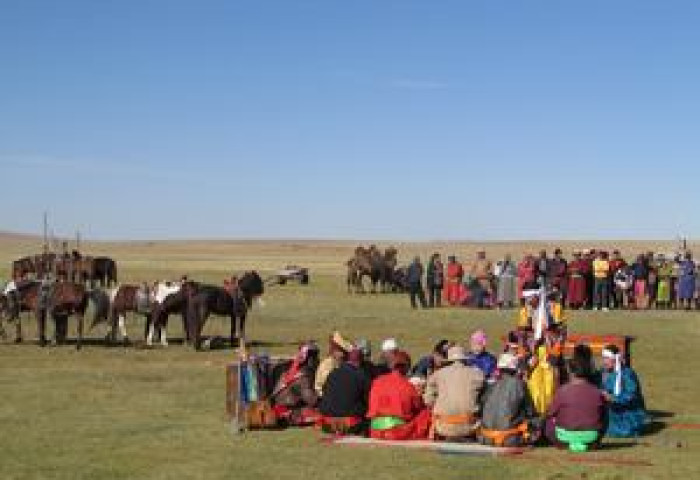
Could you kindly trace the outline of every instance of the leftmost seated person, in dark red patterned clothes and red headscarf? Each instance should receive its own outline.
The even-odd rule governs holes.
[[[286,425],[312,425],[317,420],[318,395],[313,388],[314,369],[318,364],[318,350],[304,344],[299,348],[289,369],[277,381],[270,403]]]

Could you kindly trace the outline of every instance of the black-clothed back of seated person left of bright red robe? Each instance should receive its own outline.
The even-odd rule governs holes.
[[[364,417],[370,380],[364,371],[344,363],[326,379],[319,410],[328,417]]]

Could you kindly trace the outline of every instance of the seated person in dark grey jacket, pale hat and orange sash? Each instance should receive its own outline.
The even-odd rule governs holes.
[[[484,394],[479,441],[497,447],[534,443],[540,422],[527,385],[518,376],[518,357],[503,353],[498,372],[498,380]]]

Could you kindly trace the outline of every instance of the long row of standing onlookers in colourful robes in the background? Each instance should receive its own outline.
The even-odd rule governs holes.
[[[492,262],[486,252],[460,262],[451,255],[443,264],[434,253],[424,268],[419,257],[407,269],[411,306],[513,308],[525,305],[523,292],[546,288],[572,309],[700,308],[700,269],[689,251],[674,255],[639,254],[625,260],[618,250],[574,250],[567,260],[561,249],[550,257],[525,255],[516,263],[510,255]],[[426,298],[427,293],[427,298]]]

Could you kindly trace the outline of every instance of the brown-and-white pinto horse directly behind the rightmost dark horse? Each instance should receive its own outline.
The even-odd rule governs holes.
[[[153,345],[153,337],[156,332],[160,334],[160,343],[168,345],[167,326],[168,317],[173,313],[182,315],[182,328],[185,332],[185,341],[190,341],[187,327],[187,304],[194,292],[200,288],[200,284],[192,281],[183,283],[158,282],[151,292],[153,309],[151,318],[146,318],[146,345]]]

